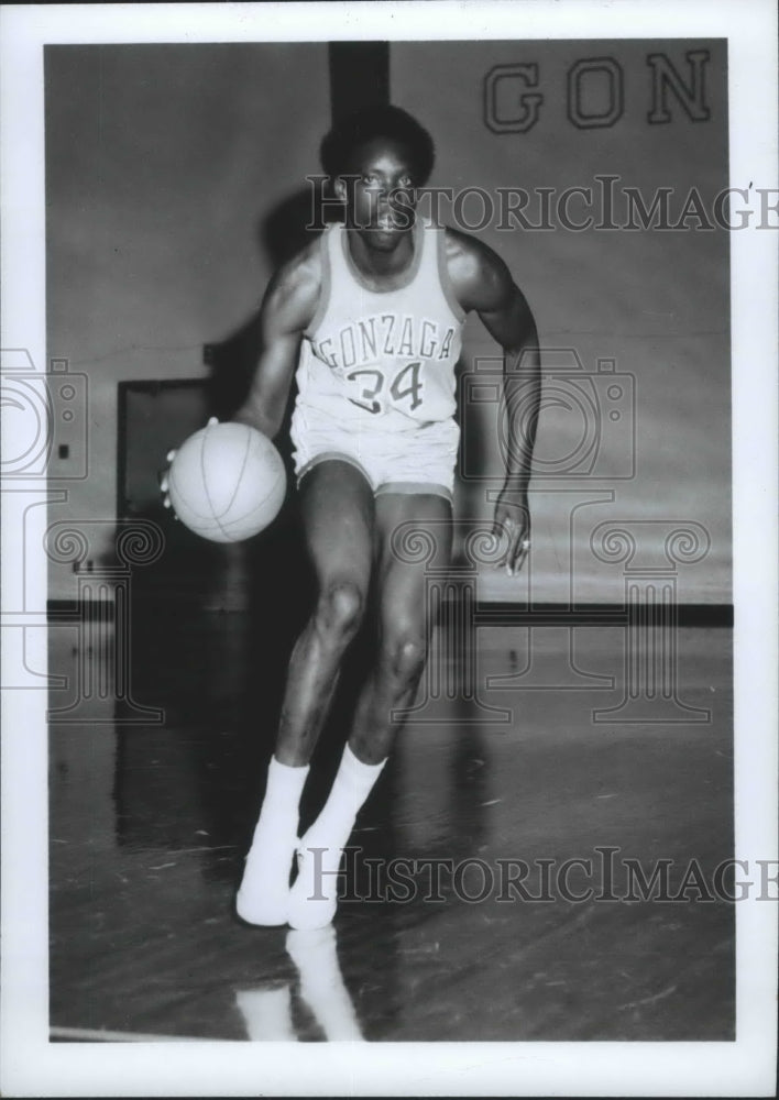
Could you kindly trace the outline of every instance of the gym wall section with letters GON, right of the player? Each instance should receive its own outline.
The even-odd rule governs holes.
[[[663,112],[655,103],[648,59],[661,55],[654,64],[670,63],[691,88],[687,53],[701,51],[707,54],[699,63],[705,112],[693,112],[706,117],[690,118],[668,87]],[[393,101],[418,117],[436,140],[430,185],[480,187],[492,196],[495,216],[478,235],[513,272],[545,349],[536,450],[544,476],[534,480],[531,495],[534,602],[568,602],[569,592],[577,603],[619,602],[623,564],[599,560],[590,544],[593,534],[597,539],[605,521],[626,526],[637,540],[632,568],[651,571],[663,563],[661,543],[674,520],[680,528],[685,521],[700,525],[711,539],[701,560],[677,564],[679,601],[731,600],[727,232],[696,229],[695,218],[679,231],[577,231],[563,228],[557,215],[566,188],[592,188],[592,204],[574,196],[568,213],[571,222],[588,213],[597,222],[595,177],[611,175],[619,177],[613,185],[616,224],[626,221],[621,196],[627,187],[639,188],[647,207],[660,188],[670,188],[670,223],[695,188],[711,220],[714,197],[728,186],[726,74],[726,46],[720,41],[391,46]],[[649,121],[650,114],[669,120]],[[555,228],[498,229],[497,188],[530,193],[525,212],[531,224],[541,222],[535,189],[549,188]],[[451,204],[442,201],[440,209],[453,223],[446,217]],[[475,194],[461,207],[473,226],[484,210]],[[465,369],[473,371],[479,356],[494,356],[496,349],[478,319],[469,319],[467,331]],[[578,380],[571,352],[586,378]],[[613,361],[623,377],[599,378],[599,360]],[[622,395],[612,400],[615,382]],[[502,469],[489,392],[476,388],[481,400],[469,407],[463,426],[478,464],[492,475],[486,485],[470,480],[461,486],[460,509],[474,517],[489,516],[486,491],[500,485]],[[468,464],[464,472],[470,476]],[[599,494],[613,499],[585,503]],[[698,527],[692,530],[704,538]],[[526,594],[517,579],[482,574],[483,598]]]

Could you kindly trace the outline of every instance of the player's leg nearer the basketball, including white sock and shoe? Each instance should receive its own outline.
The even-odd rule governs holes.
[[[284,924],[298,805],[344,650],[362,618],[373,549],[373,493],[353,465],[327,461],[300,486],[317,580],[314,612],[289,661],[276,749],[235,909],[252,924]]]

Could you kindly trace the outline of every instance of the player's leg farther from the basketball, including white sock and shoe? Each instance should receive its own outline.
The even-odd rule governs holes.
[[[295,928],[320,927],[334,915],[342,848],[402,725],[393,711],[410,705],[425,668],[432,628],[425,601],[430,557],[412,560],[416,558],[409,552],[413,531],[429,544],[435,564],[446,569],[451,554],[449,501],[431,494],[380,495],[377,654],[330,796],[300,842],[299,873],[289,897],[289,923]]]

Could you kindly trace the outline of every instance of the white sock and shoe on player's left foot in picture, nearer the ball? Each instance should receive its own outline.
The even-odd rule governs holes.
[[[235,912],[249,924],[286,922],[298,806],[308,771],[308,765],[290,768],[271,759],[265,798],[235,897]]]

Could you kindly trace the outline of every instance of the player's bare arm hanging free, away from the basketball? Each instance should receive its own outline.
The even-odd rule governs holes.
[[[451,232],[451,231],[450,231]],[[530,539],[528,485],[533,472],[541,399],[538,331],[533,312],[511,272],[492,249],[474,238],[454,234],[449,270],[465,310],[479,314],[503,349],[503,391],[511,438],[506,474],[495,506],[495,529],[508,536],[500,564],[513,573],[522,566]]]

